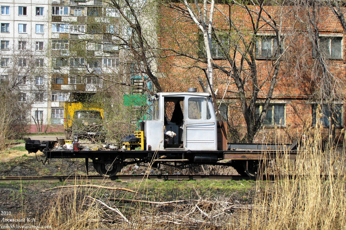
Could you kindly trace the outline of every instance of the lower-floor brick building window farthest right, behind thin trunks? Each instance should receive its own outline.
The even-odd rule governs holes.
[[[317,107],[318,104],[312,104],[312,125],[316,125],[316,112],[317,112]],[[342,120],[342,104],[335,104],[335,113],[336,113],[336,121],[335,125],[336,126],[342,126],[343,125],[343,120]],[[321,105],[321,111],[322,117],[320,118],[320,122],[323,126],[329,126],[329,117],[330,117],[330,110],[328,104],[322,104]]]

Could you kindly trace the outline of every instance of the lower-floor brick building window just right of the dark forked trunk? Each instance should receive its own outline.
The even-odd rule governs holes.
[[[255,112],[257,117],[260,116],[262,109],[263,109],[262,104],[256,104]],[[267,114],[265,116],[263,124],[267,126],[273,126],[275,124],[279,126],[284,126],[285,125],[285,104],[270,104],[268,106]]]

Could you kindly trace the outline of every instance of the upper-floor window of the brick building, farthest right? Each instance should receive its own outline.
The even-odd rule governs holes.
[[[342,56],[342,37],[319,37],[321,53],[330,59],[341,59]],[[312,56],[316,56],[316,50],[312,50]]]

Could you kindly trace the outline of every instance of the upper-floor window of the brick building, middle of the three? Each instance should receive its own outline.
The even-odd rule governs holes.
[[[278,41],[274,36],[260,37],[256,40],[255,57],[256,58],[272,58],[277,55]]]

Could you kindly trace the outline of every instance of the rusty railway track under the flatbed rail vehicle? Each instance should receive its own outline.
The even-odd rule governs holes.
[[[103,180],[249,180],[251,178],[244,176],[229,176],[229,175],[119,175],[112,178],[100,176],[23,176],[23,177],[0,177],[0,182],[10,181],[64,181],[64,182],[79,182],[79,181],[103,181]],[[269,178],[268,178],[269,179]]]

